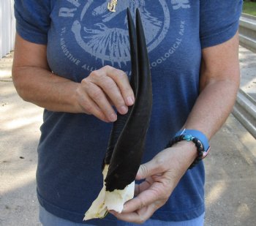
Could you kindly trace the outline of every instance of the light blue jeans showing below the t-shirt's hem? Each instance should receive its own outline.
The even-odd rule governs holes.
[[[148,219],[143,225],[145,226],[203,226],[204,213],[195,219],[190,219],[183,222],[163,222],[156,219]],[[67,219],[54,216],[45,210],[42,206],[39,206],[39,220],[43,226],[93,226],[89,224],[79,224],[70,222]],[[118,222],[118,226],[132,226],[137,225],[129,222]]]

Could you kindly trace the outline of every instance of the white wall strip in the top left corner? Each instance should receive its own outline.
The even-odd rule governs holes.
[[[14,48],[15,17],[14,0],[0,0],[0,58]]]

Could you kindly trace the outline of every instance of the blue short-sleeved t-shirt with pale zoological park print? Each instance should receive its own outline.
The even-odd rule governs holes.
[[[151,66],[153,110],[143,162],[165,148],[184,125],[199,94],[202,48],[236,34],[241,0],[16,0],[17,31],[47,45],[50,69],[80,82],[111,65],[130,74],[127,7],[140,10]],[[26,53],[24,53],[26,54]],[[38,146],[37,194],[47,211],[82,222],[102,188],[102,159],[111,124],[94,116],[45,110]],[[170,162],[171,165],[171,162]],[[203,163],[187,170],[152,219],[183,221],[204,211]],[[93,219],[115,225],[115,218]]]

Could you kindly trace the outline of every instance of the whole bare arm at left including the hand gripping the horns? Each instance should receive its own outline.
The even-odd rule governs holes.
[[[86,113],[102,121],[116,121],[116,112],[127,113],[134,94],[127,75],[105,66],[80,83],[54,75],[48,66],[47,45],[15,39],[12,78],[20,97],[52,111]],[[26,53],[26,54],[24,54]]]

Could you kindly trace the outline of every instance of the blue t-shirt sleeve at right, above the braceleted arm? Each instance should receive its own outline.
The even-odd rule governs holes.
[[[239,26],[242,0],[200,1],[200,42],[206,48],[232,38]]]

